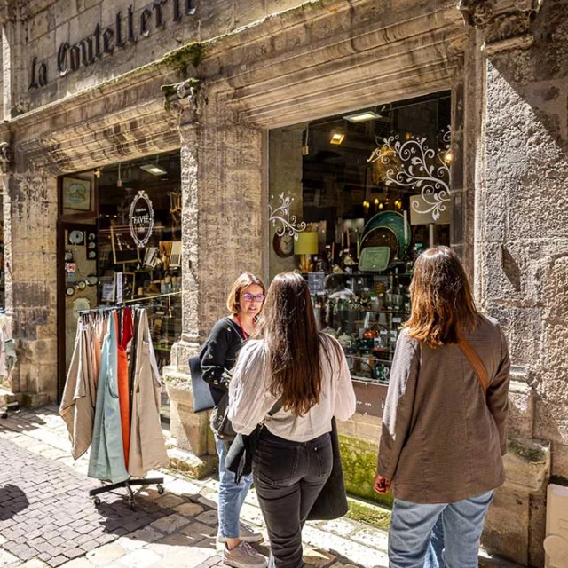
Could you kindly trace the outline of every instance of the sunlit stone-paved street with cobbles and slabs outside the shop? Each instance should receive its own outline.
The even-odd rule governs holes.
[[[88,457],[70,456],[55,406],[0,420],[0,568],[213,568],[221,564],[216,478],[189,480],[169,470],[166,492],[140,488],[135,510],[118,494],[88,496]],[[254,490],[242,519],[263,529]],[[304,528],[305,562],[315,568],[383,568],[387,533],[343,518]],[[258,549],[267,554],[266,543]]]

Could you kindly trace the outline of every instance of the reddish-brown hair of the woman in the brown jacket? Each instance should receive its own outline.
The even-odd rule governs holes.
[[[429,248],[414,264],[408,336],[430,347],[458,343],[477,325],[478,312],[468,276],[452,248]]]

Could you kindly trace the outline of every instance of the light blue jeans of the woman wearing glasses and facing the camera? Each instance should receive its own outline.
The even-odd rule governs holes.
[[[239,517],[241,516],[242,504],[247,497],[248,489],[252,485],[252,474],[241,477],[240,483],[234,482],[233,471],[225,468],[225,457],[228,444],[225,440],[215,437],[217,455],[219,456],[219,517],[218,535],[225,539],[238,539],[241,533]]]

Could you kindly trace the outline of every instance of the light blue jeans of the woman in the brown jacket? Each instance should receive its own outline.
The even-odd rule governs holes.
[[[477,568],[479,538],[491,501],[493,491],[455,503],[434,505],[395,499],[390,519],[389,567],[423,568],[427,553],[432,562],[430,537],[441,517],[446,567]]]

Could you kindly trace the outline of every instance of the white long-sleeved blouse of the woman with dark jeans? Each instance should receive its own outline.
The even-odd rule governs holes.
[[[328,345],[319,351],[322,379],[319,404],[312,406],[304,416],[295,416],[280,409],[272,417],[267,417],[278,400],[269,390],[268,352],[263,340],[245,343],[229,384],[229,419],[233,422],[233,429],[250,434],[258,423],[264,421],[266,428],[275,436],[307,442],[331,431],[333,416],[338,420],[351,418],[356,406],[351,373],[343,349],[335,350],[331,343],[337,343],[336,340],[330,336],[327,339]]]

